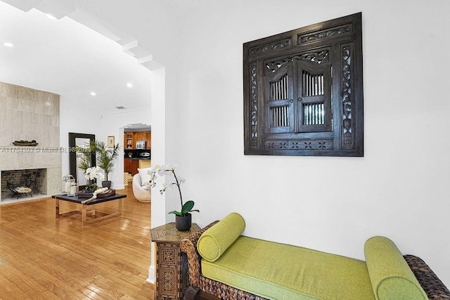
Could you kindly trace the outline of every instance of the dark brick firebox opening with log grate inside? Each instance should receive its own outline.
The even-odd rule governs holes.
[[[1,199],[46,195],[46,169],[1,171]]]

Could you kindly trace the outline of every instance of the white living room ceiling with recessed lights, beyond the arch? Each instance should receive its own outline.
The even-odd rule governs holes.
[[[0,81],[57,93],[99,114],[150,107],[150,70],[116,41],[71,18],[51,20],[2,1]]]

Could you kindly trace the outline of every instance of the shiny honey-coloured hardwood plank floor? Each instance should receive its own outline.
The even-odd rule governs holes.
[[[56,219],[51,198],[0,205],[0,299],[154,299],[150,203],[134,198],[131,182],[117,193],[128,195],[122,215],[85,226],[81,214]]]

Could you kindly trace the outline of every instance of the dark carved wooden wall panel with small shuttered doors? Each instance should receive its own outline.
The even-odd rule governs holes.
[[[361,13],[243,45],[245,155],[364,156]]]

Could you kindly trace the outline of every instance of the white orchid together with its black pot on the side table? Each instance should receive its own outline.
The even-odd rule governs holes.
[[[160,166],[159,164],[155,165],[155,167],[152,167],[150,170],[150,186],[154,188],[156,186],[155,178],[158,174],[158,176],[165,176],[167,175],[169,179],[172,179],[172,176],[174,177],[174,181],[172,182],[165,182],[162,186],[162,189],[160,190],[160,194],[162,195],[166,190],[172,189],[174,185],[178,188],[178,193],[180,196],[180,203],[181,203],[181,210],[180,211],[170,211],[169,214],[175,215],[175,227],[176,229],[180,231],[189,230],[191,228],[192,223],[192,217],[191,217],[191,211],[198,211],[198,209],[193,209],[194,202],[193,200],[188,200],[186,203],[183,203],[183,195],[181,194],[181,183],[184,183],[184,179],[179,179],[176,177],[175,174],[175,168],[176,164],[163,164]]]

